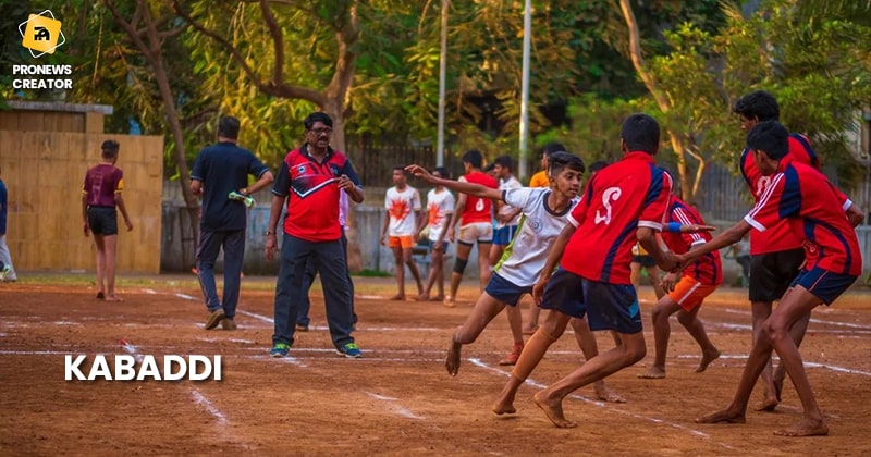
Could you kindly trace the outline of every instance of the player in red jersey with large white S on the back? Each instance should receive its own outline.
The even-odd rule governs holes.
[[[659,145],[660,126],[653,118],[633,114],[623,122],[623,159],[589,180],[532,289],[536,302],[551,312],[520,354],[493,406],[496,413],[513,410],[517,388],[573,317],[586,314],[593,331],[616,331],[622,344],[535,395],[554,425],[577,425],[563,415],[566,395],[645,357],[638,295],[629,280],[631,247],[638,239],[660,267],[670,271],[677,267],[674,254],[663,252],[655,237],[672,192],[671,176],[653,162]]]

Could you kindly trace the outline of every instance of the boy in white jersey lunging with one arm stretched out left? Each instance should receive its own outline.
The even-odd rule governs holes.
[[[514,307],[524,294],[531,293],[536,276],[540,274],[548,259],[549,246],[568,223],[566,215],[577,205],[584,162],[576,156],[561,152],[551,156],[549,165],[552,176],[550,188],[523,187],[502,192],[471,183],[438,178],[419,165],[406,168],[428,183],[482,198],[501,199],[522,209],[517,234],[496,264],[494,274],[475,304],[471,314],[451,338],[444,363],[451,375],[456,375],[459,371],[462,346],[474,343],[505,306]],[[596,338],[585,321],[577,321],[577,325],[573,322],[575,334],[585,357],[589,359],[598,353]],[[596,393],[604,400],[623,402],[603,382],[596,384]]]

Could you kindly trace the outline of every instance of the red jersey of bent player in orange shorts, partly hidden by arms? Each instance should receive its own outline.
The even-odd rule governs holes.
[[[684,200],[676,196],[671,196],[666,222],[677,222],[682,225],[704,225],[699,212]],[[678,233],[663,232],[662,240],[668,249],[677,254],[686,254],[692,246],[704,244],[713,238],[710,233]],[[720,260],[720,251],[714,250],[698,258],[695,262],[684,269],[684,275],[690,276],[704,285],[719,285],[723,282],[723,263]]]

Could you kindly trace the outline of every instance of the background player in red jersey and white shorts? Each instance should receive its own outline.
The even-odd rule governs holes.
[[[499,183],[493,176],[481,172],[482,165],[483,156],[479,150],[473,149],[466,152],[463,156],[466,174],[458,181],[499,188]],[[453,243],[456,238],[456,261],[454,261],[454,271],[451,273],[451,295],[444,299],[444,305],[449,308],[456,306],[456,292],[459,289],[459,282],[463,281],[463,272],[466,271],[475,242],[478,242],[478,272],[481,292],[490,282],[492,273],[489,261],[490,245],[493,243],[492,205],[490,199],[474,195],[459,194],[457,197],[454,214],[447,225],[447,239]],[[459,235],[455,236],[457,222],[459,222]]]

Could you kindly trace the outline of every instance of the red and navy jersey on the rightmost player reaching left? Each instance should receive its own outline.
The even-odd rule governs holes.
[[[786,220],[793,236],[801,239],[806,270],[819,267],[837,274],[858,276],[862,256],[856,232],[845,210],[852,202],[817,169],[781,161],[780,173],[744,220],[766,232]]]

